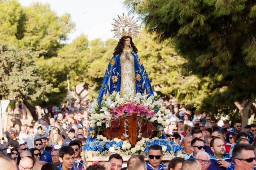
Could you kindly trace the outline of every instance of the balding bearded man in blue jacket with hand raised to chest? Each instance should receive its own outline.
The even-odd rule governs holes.
[[[214,137],[210,142],[213,154],[210,156],[211,164],[208,170],[226,170],[233,162],[229,153],[225,152],[225,144],[220,137]]]

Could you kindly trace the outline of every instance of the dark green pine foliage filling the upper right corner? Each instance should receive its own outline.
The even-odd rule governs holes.
[[[146,30],[172,41],[189,73],[209,79],[202,107],[214,113],[255,99],[255,2],[247,0],[126,0]],[[171,38],[171,39],[170,39]],[[170,42],[171,43],[171,42]]]

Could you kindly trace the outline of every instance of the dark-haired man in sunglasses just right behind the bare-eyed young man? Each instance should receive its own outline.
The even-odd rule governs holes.
[[[74,149],[75,152],[75,160],[74,160],[74,167],[76,170],[84,170],[83,160],[80,156],[80,143],[77,140],[71,141],[68,144],[70,147]]]

